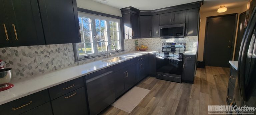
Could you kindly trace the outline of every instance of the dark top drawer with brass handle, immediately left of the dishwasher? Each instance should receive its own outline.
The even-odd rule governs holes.
[[[51,100],[84,86],[83,77],[49,88]]]

